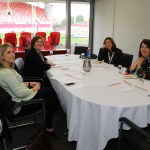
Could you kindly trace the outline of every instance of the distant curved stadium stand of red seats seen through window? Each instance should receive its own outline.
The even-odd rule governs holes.
[[[35,18],[38,22],[48,22],[46,11],[40,7],[35,6]],[[10,14],[8,14],[10,12]],[[9,15],[9,16],[8,16]],[[11,17],[12,16],[12,17]],[[32,23],[32,5],[25,2],[9,2],[9,9],[7,2],[0,2],[0,22],[25,22]]]

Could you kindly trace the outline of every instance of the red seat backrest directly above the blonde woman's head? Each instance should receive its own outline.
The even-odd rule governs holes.
[[[6,33],[4,43],[10,43],[13,47],[17,45],[16,33]]]

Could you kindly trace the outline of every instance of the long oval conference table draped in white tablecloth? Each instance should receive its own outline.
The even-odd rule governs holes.
[[[79,55],[47,59],[56,64],[47,75],[67,116],[68,140],[77,141],[77,150],[103,150],[118,137],[120,117],[140,127],[150,123],[150,81],[97,60],[84,72]]]

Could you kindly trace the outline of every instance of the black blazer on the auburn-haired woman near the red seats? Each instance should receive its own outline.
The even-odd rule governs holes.
[[[24,62],[22,75],[24,77],[43,77],[45,71],[51,68],[50,64],[46,63],[46,58],[42,55],[44,61],[40,58],[36,50],[31,49]]]

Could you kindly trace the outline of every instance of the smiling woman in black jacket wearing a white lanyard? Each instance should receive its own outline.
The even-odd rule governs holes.
[[[114,64],[118,66],[122,64],[122,50],[116,47],[114,40],[111,37],[107,37],[103,42],[103,48],[100,48],[98,54],[98,60]]]

